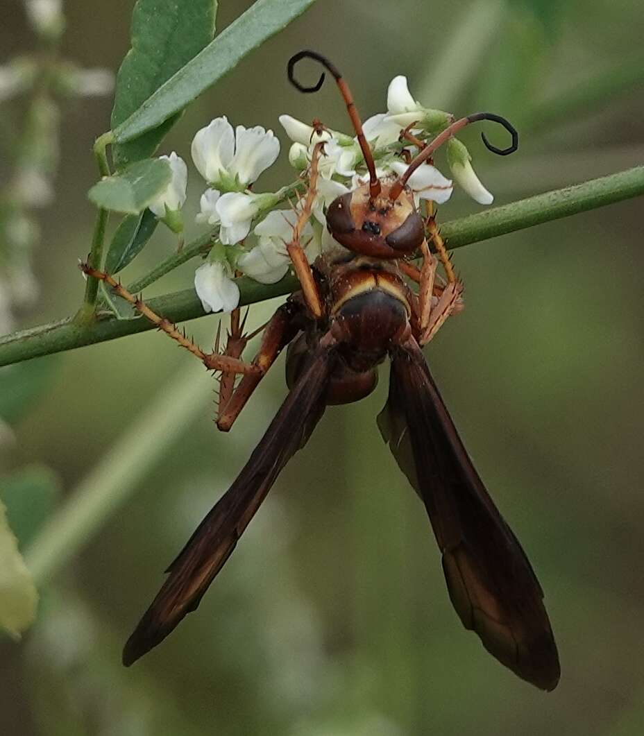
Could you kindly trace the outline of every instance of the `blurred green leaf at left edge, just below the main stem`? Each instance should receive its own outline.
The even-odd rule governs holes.
[[[0,368],[0,417],[15,424],[47,388],[54,358],[35,359]]]

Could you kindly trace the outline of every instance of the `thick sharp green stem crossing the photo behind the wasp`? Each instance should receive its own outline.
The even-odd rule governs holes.
[[[470,215],[441,226],[450,249],[523,230],[526,227],[592,210],[644,194],[644,166],[620,171],[583,184],[556,189],[521,199],[509,205]],[[297,289],[297,280],[284,277],[276,284],[261,284],[247,277],[238,279],[241,305],[272,299]],[[194,289],[149,300],[149,307],[173,322],[204,316]],[[154,328],[146,319],[99,319],[82,325],[72,319],[41,325],[0,338],[0,366],[59,353],[96,342]]]

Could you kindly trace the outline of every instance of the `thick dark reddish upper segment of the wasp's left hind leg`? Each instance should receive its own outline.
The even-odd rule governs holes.
[[[300,331],[302,312],[303,305],[288,301],[277,309],[266,324],[263,329],[260,348],[251,364],[255,368],[255,372],[244,375],[238,386],[231,390],[228,397],[225,397],[223,392],[220,393],[219,412],[217,414],[217,427],[220,430],[227,432],[233,426],[233,422],[246,406],[246,402],[261,379],[275,363],[277,356]],[[246,339],[250,339],[250,336]],[[224,398],[226,398],[225,401]]]

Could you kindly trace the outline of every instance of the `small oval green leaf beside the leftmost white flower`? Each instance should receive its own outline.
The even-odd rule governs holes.
[[[146,158],[94,184],[88,197],[105,210],[138,215],[170,180],[170,164],[165,159]]]

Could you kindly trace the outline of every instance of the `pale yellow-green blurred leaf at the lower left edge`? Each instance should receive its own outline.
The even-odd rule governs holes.
[[[36,617],[38,592],[0,503],[0,626],[19,638]]]

